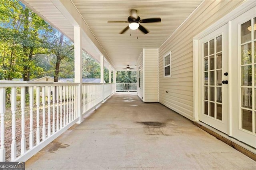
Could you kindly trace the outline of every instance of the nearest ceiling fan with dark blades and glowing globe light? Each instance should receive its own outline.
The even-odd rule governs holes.
[[[132,9],[131,15],[128,17],[127,21],[108,21],[108,23],[130,23],[124,30],[122,30],[119,34],[124,34],[129,28],[131,30],[137,30],[139,29],[144,34],[148,34],[149,31],[144,28],[140,23],[150,23],[150,22],[161,22],[161,18],[147,18],[141,20],[140,17],[137,14],[137,10]]]

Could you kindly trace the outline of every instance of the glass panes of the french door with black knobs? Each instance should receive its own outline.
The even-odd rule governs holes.
[[[222,35],[203,45],[204,115],[222,121]]]

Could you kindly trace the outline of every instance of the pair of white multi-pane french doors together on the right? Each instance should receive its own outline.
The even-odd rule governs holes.
[[[256,148],[256,7],[198,45],[199,120]]]

